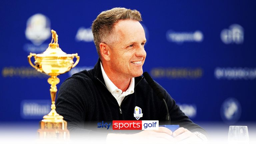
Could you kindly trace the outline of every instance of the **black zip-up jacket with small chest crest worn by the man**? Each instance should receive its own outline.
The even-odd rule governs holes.
[[[179,124],[191,132],[197,131],[207,135],[203,128],[193,123],[180,110],[167,91],[157,85],[168,105],[171,124]],[[68,122],[71,133],[91,133],[93,128],[98,130],[97,122],[136,120],[133,115],[135,106],[142,109],[143,117],[139,120],[165,120],[166,108],[163,100],[157,97],[142,76],[135,77],[134,93],[127,95],[119,107],[117,100],[105,85],[100,60],[93,69],[78,72],[66,79],[56,100],[56,111]]]

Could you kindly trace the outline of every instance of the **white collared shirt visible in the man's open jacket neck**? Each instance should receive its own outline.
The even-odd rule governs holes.
[[[125,96],[134,93],[134,78],[131,78],[130,85],[128,89],[123,92],[121,89],[115,86],[115,84],[108,78],[107,74],[104,71],[104,68],[100,62],[100,67],[101,67],[101,72],[103,79],[105,81],[105,84],[108,88],[108,91],[116,98],[119,106],[121,106],[121,103],[124,99]]]

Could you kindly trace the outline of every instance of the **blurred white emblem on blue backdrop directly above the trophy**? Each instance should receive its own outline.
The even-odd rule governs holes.
[[[43,44],[51,36],[50,20],[43,14],[35,14],[27,21],[25,36],[32,44],[25,44],[24,50],[27,52],[43,52],[48,48],[48,44]]]

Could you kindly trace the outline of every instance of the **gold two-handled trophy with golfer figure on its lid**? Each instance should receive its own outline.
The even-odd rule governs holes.
[[[39,123],[38,135],[39,139],[69,139],[69,131],[67,129],[67,122],[63,120],[63,116],[57,114],[55,110],[55,98],[57,87],[60,82],[58,75],[70,71],[75,67],[80,57],[76,54],[66,54],[59,48],[58,35],[56,31],[51,30],[52,41],[49,47],[40,54],[30,53],[28,56],[29,64],[37,71],[50,76],[48,83],[51,85],[50,94],[52,99],[51,111],[43,117]],[[54,40],[54,42],[53,42]],[[31,57],[34,57],[34,64],[31,62]],[[76,57],[76,62],[73,58]]]

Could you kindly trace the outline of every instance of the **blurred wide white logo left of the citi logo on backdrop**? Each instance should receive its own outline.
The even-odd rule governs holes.
[[[169,42],[176,42],[179,44],[183,42],[202,42],[204,35],[199,30],[195,32],[174,32],[173,30],[168,30],[166,32],[166,39]]]

